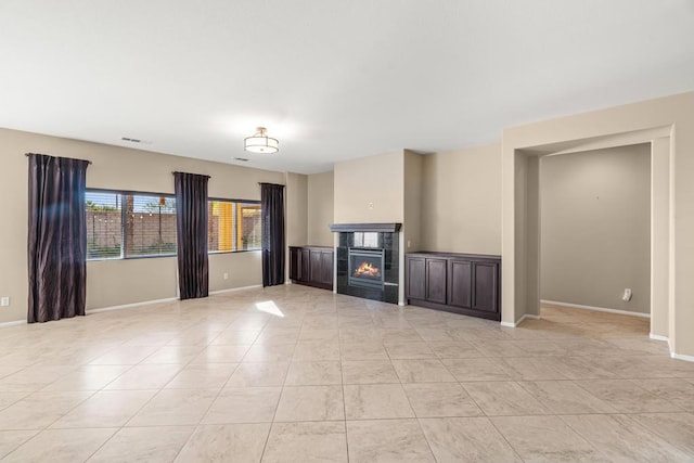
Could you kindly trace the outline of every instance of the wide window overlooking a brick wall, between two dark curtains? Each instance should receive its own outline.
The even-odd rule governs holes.
[[[171,195],[89,190],[88,259],[176,255],[176,198]]]

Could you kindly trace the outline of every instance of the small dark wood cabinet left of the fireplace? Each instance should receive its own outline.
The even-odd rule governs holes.
[[[290,280],[309,286],[333,288],[333,248],[290,246]]]

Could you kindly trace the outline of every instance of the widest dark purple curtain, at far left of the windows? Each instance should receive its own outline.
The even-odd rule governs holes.
[[[85,314],[88,160],[28,154],[27,322]]]

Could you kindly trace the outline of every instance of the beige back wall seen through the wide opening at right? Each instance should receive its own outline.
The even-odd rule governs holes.
[[[650,144],[544,156],[540,198],[541,298],[650,313]]]

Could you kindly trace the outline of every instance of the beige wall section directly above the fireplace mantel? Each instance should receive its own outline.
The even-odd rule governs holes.
[[[335,164],[335,223],[404,219],[403,151]]]

